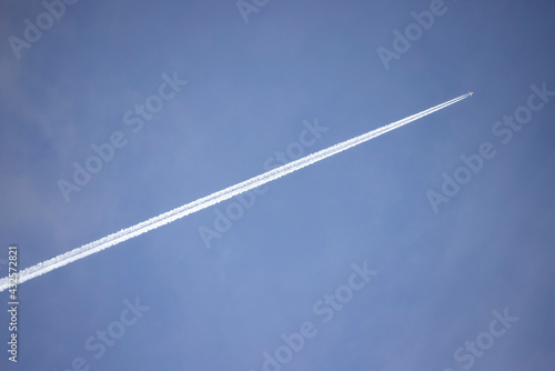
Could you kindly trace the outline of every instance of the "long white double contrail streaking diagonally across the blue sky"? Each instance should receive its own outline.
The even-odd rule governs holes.
[[[286,163],[280,168],[275,168],[275,169],[270,170],[268,172],[264,172],[258,177],[251,178],[251,179],[245,180],[245,181],[238,183],[235,186],[225,188],[221,191],[218,191],[218,192],[214,192],[210,195],[203,197],[196,201],[190,202],[190,203],[184,204],[182,207],[179,207],[176,209],[164,212],[158,217],[151,218],[151,219],[143,221],[139,224],[122,229],[121,231],[109,234],[104,238],[101,238],[100,240],[83,244],[80,248],[73,249],[73,250],[68,251],[65,253],[62,253],[56,258],[52,258],[50,260],[47,260],[47,261],[43,261],[43,262],[38,263],[36,265],[23,269],[18,273],[19,283],[29,281],[36,277],[48,273],[57,268],[67,265],[71,262],[83,259],[83,258],[91,255],[95,252],[111,248],[118,243],[121,243],[123,241],[132,239],[133,237],[140,235],[142,233],[147,233],[148,231],[151,231],[151,230],[157,229],[159,227],[162,227],[164,224],[171,223],[172,221],[181,219],[181,218],[189,215],[193,212],[196,212],[199,210],[206,209],[206,208],[209,208],[218,202],[231,199],[232,197],[238,195],[238,194],[243,193],[243,192],[246,192],[253,188],[263,186],[268,182],[271,182],[272,180],[275,180],[278,178],[286,176],[293,171],[296,171],[299,169],[302,169],[304,167],[313,164],[313,163],[321,161],[325,158],[329,158],[331,156],[334,156],[336,153],[345,151],[354,146],[361,144],[367,140],[371,140],[371,139],[376,138],[381,134],[384,134],[387,131],[392,131],[392,130],[395,130],[397,128],[401,128],[401,127],[403,127],[410,122],[413,122],[420,118],[423,118],[427,114],[431,114],[431,113],[436,112],[441,109],[444,109],[447,106],[454,104],[463,99],[466,99],[470,96],[471,96],[471,93],[461,96],[461,97],[452,99],[445,103],[432,107],[432,108],[430,108],[425,111],[422,111],[420,113],[416,113],[416,114],[410,116],[405,119],[395,121],[395,122],[390,123],[385,127],[381,127],[381,128],[377,128],[375,130],[372,130],[365,134],[345,140],[344,142],[329,147],[329,148],[321,150],[319,152],[305,156],[299,160]],[[6,277],[6,278],[0,280],[0,292],[8,289],[8,287],[9,287],[9,279],[8,279],[8,277]]]

